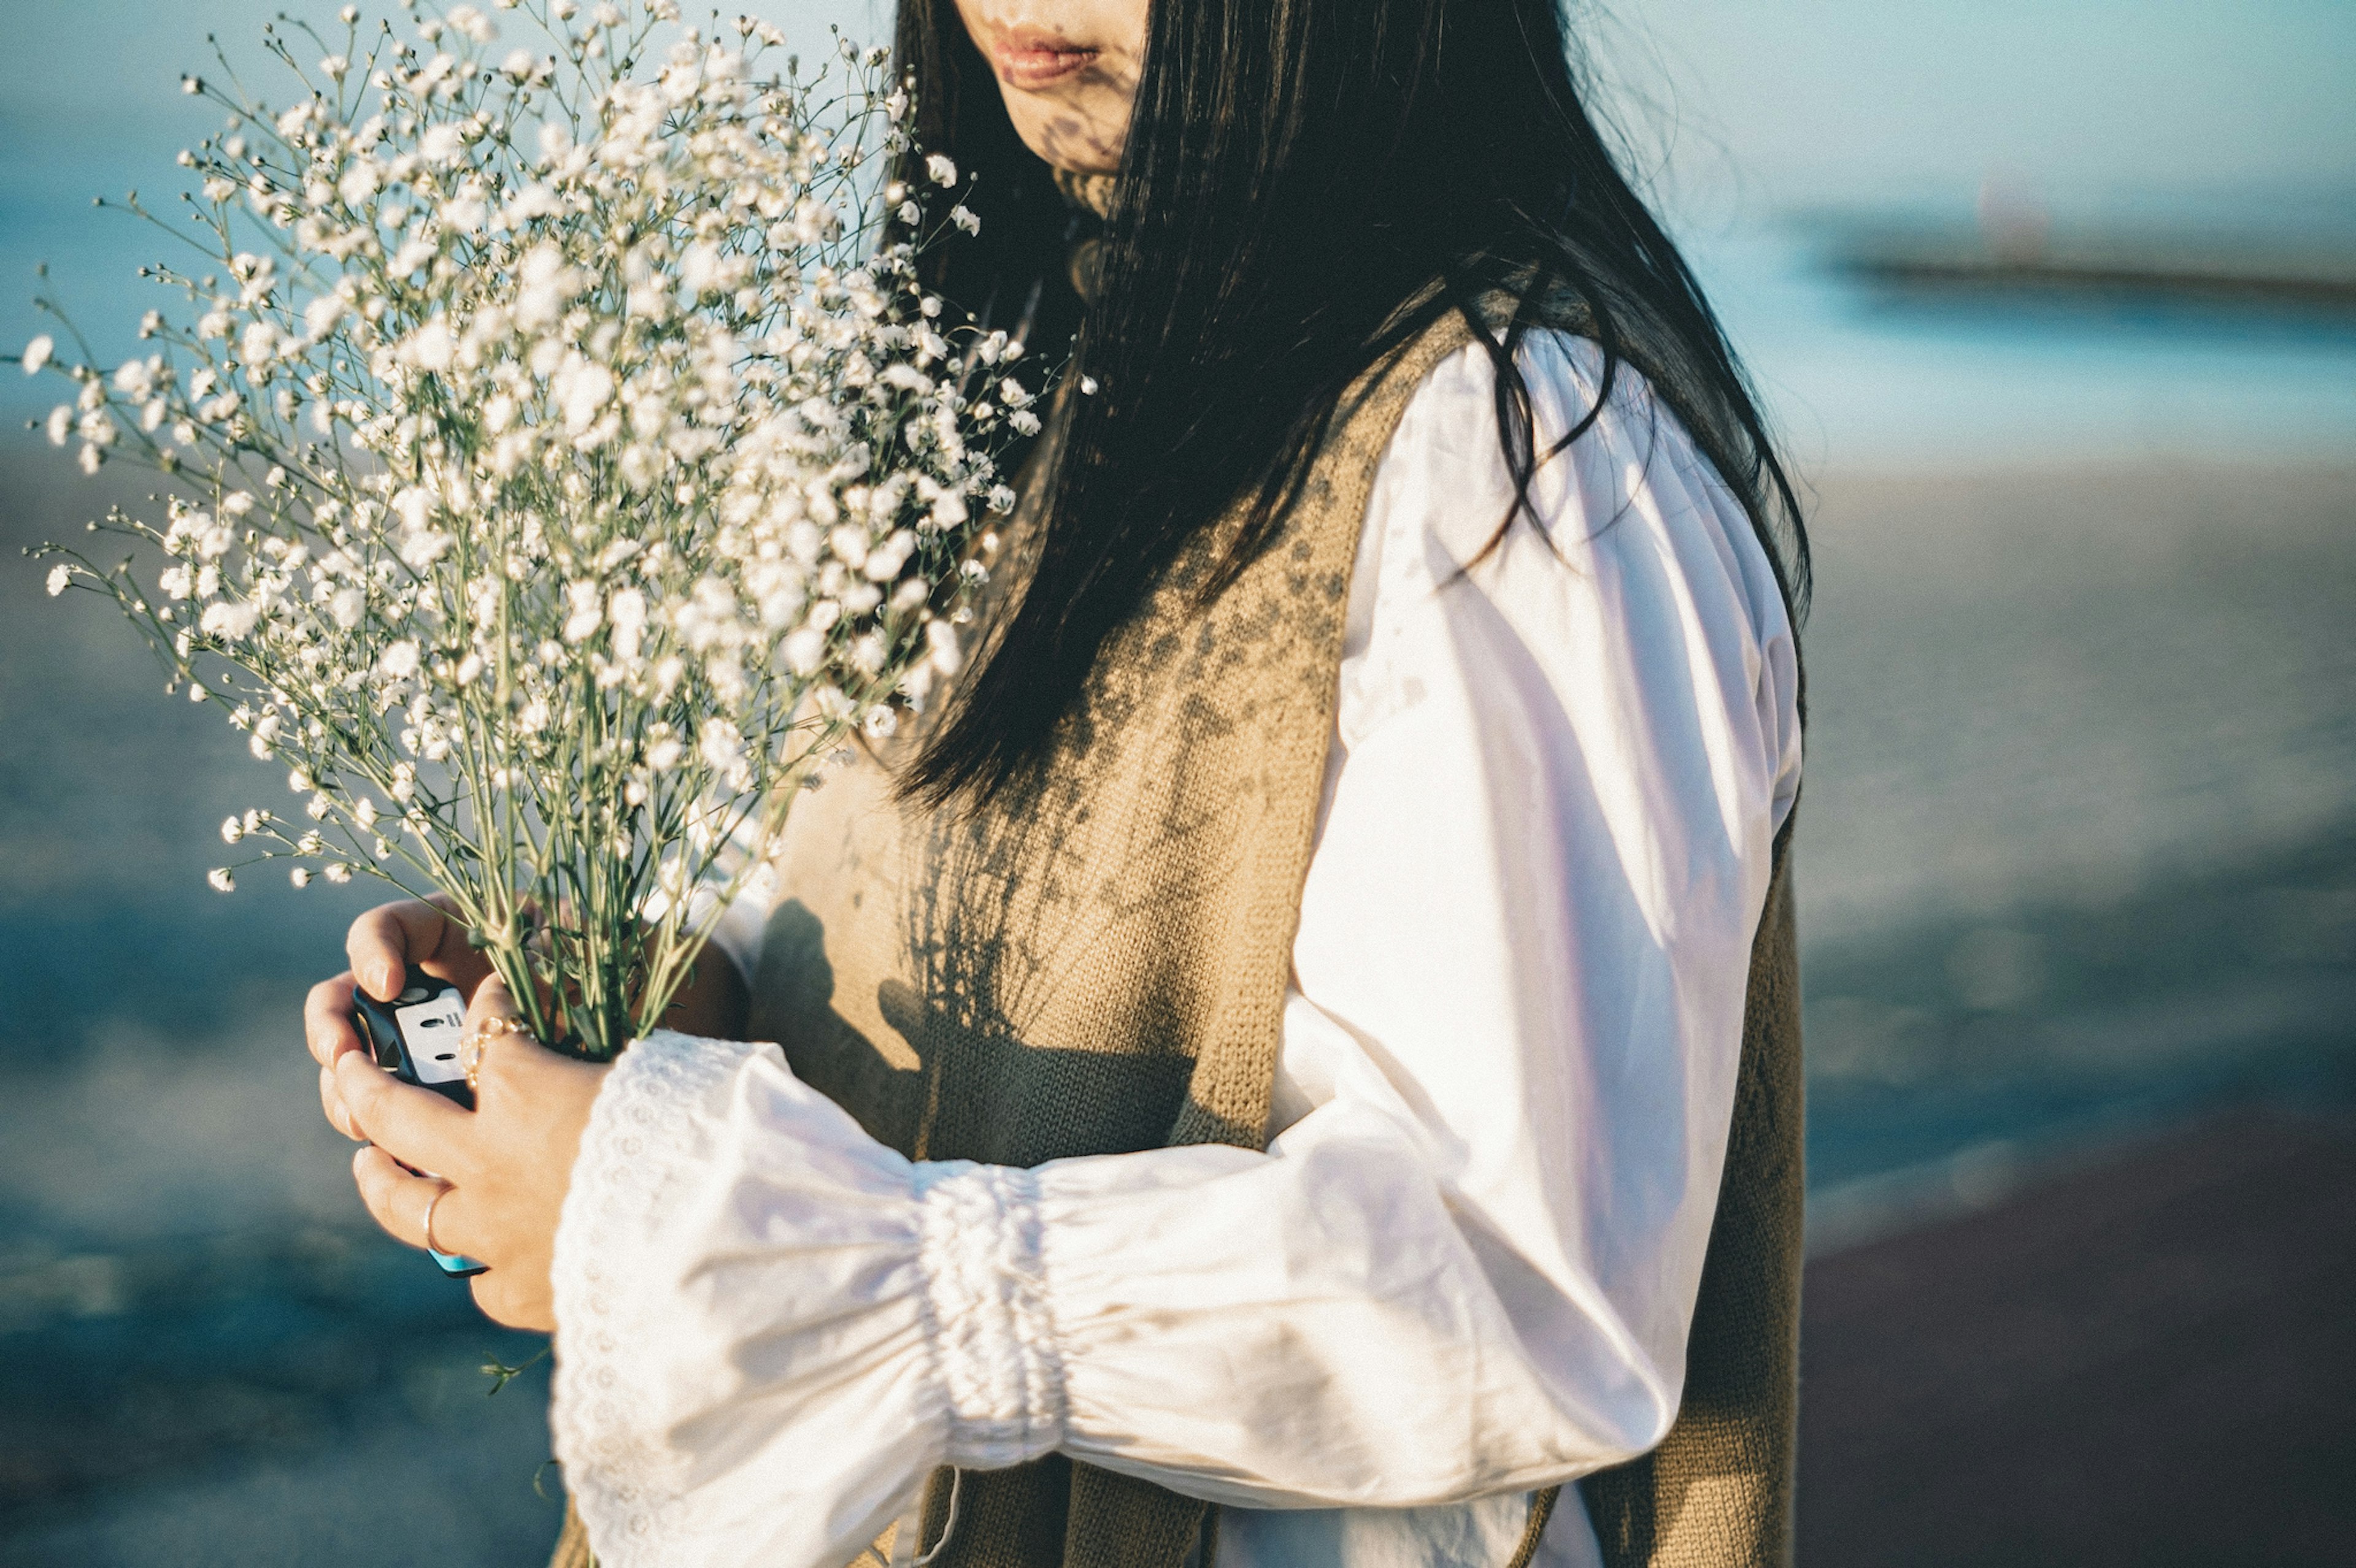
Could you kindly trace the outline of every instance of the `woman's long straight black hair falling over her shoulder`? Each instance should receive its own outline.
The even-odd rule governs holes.
[[[938,261],[935,287],[994,323],[1032,318],[1030,346],[1053,358],[1070,344],[1067,374],[1096,384],[1037,480],[1027,589],[905,789],[990,796],[1041,765],[1105,638],[1162,572],[1242,501],[1211,586],[1232,579],[1275,537],[1341,393],[1444,311],[1463,311],[1496,363],[1498,438],[1524,499],[1548,452],[1534,452],[1513,351],[1569,299],[1602,344],[1604,396],[1621,363],[1647,377],[1805,610],[1791,478],[1718,318],[1588,113],[1560,7],[1154,0],[1084,306],[1070,210],[954,0],[900,0],[924,148],[978,172],[982,231]],[[1496,292],[1522,308],[1494,332],[1477,304]]]

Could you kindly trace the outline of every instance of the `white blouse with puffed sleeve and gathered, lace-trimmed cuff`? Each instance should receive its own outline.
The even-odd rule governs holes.
[[[1543,450],[1600,356],[1520,365]],[[1442,363],[1376,476],[1265,1154],[912,1163],[775,1045],[608,1074],[554,1281],[601,1563],[841,1568],[935,1467],[1060,1450],[1223,1504],[1220,1568],[1487,1568],[1668,1431],[1793,633],[1626,367],[1543,537],[1458,574],[1513,494],[1491,377]],[[1576,1488],[1538,1561],[1600,1561]]]

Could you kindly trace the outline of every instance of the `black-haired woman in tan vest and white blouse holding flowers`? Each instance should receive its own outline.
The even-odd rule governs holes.
[[[1781,1561],[1805,553],[1555,0],[900,49],[942,290],[1084,391],[978,664],[620,1064],[372,1071],[353,975],[504,1012],[422,904],[306,1015],[375,1217],[558,1337],[561,1554]]]

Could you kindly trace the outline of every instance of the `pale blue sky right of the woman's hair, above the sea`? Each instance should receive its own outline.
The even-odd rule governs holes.
[[[1988,174],[2059,200],[2356,186],[2349,0],[1616,0],[1609,19],[1607,64],[1666,85],[1694,132],[1685,179],[1739,172],[1751,202],[1939,200]]]

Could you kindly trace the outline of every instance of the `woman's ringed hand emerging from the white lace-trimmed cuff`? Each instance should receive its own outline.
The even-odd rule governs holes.
[[[469,1031],[511,1017],[507,986],[492,975],[474,989]],[[556,1220],[573,1184],[573,1158],[608,1067],[544,1050],[516,1034],[483,1038],[476,1109],[401,1083],[365,1052],[346,1050],[330,1069],[349,1130],[368,1137],[351,1172],[360,1201],[391,1236],[431,1243],[490,1264],[474,1276],[474,1302],[509,1328],[556,1330],[549,1262]],[[436,1175],[417,1175],[431,1170]]]

